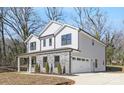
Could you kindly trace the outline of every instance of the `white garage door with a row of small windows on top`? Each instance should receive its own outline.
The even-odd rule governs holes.
[[[71,72],[80,73],[80,72],[91,72],[91,64],[89,59],[82,58],[72,58],[71,61]]]

